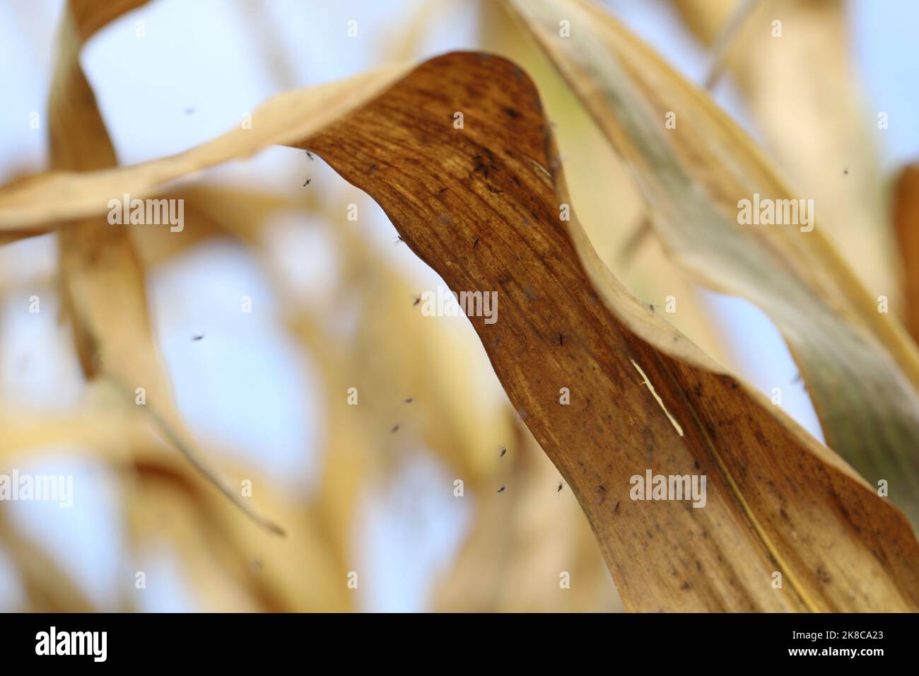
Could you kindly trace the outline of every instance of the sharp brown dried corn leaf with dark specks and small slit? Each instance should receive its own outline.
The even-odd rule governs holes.
[[[560,220],[569,202],[526,74],[451,53],[382,91],[384,77],[278,97],[254,126],[263,143],[310,148],[366,190],[451,289],[499,292],[499,320],[471,317],[472,326],[578,499],[627,609],[919,609],[919,546],[902,513],[636,301],[575,218]],[[339,120],[310,125],[298,114],[349,87],[351,111]],[[298,139],[294,129],[312,133]],[[6,212],[14,204],[18,224],[98,212],[110,194],[142,195],[257,147],[237,131],[144,165],[33,178],[0,191],[0,222],[17,224]],[[707,475],[705,507],[630,499],[630,477],[649,469]]]

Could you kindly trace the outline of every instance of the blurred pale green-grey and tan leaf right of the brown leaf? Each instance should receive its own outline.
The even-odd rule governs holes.
[[[613,17],[580,0],[507,4],[630,163],[671,254],[702,283],[769,315],[798,362],[827,444],[870,483],[895,487],[891,499],[919,523],[913,341],[879,312],[812,208],[809,223],[800,216],[795,224],[740,223],[742,200],[780,207],[803,196],[705,92]],[[560,18],[571,38],[559,36]],[[675,128],[665,126],[668,114]]]

